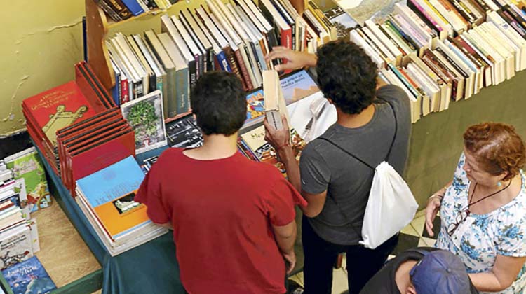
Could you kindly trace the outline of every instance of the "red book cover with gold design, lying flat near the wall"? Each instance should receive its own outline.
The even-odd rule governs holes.
[[[53,146],[58,130],[96,114],[74,81],[29,97],[22,106]]]

